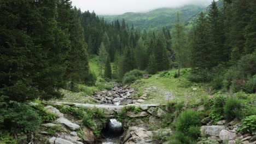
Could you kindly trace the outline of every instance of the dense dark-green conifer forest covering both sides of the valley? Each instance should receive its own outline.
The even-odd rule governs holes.
[[[132,83],[169,69],[178,79],[181,68],[191,68],[187,79],[207,83],[211,93],[256,92],[256,1],[225,0],[219,8],[213,1],[192,28],[177,12],[171,29],[154,30],[106,22],[70,0],[0,0],[0,9],[1,135],[17,138],[51,119],[28,102],[60,98],[60,89],[74,92],[79,83],[94,86],[95,55],[106,81]]]

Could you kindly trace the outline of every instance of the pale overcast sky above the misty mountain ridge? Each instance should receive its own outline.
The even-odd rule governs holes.
[[[72,0],[82,11],[94,10],[96,14],[123,14],[144,12],[156,8],[180,7],[185,4],[208,5],[212,0]]]

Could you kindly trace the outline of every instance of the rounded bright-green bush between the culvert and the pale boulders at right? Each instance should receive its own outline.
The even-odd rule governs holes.
[[[190,127],[200,125],[199,113],[191,110],[185,110],[179,115],[176,122],[176,130],[181,131],[184,134],[188,133]]]

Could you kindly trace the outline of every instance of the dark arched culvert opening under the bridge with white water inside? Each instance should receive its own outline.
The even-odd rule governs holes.
[[[105,138],[102,140],[102,143],[119,143],[119,136],[122,135],[123,132],[123,124],[121,122],[117,121],[117,119],[109,119],[106,127],[104,127],[101,131],[101,136]]]

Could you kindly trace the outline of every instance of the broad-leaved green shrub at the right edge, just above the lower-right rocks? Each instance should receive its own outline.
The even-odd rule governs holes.
[[[242,127],[238,129],[243,133],[254,132],[256,130],[256,115],[248,116],[242,120]]]

